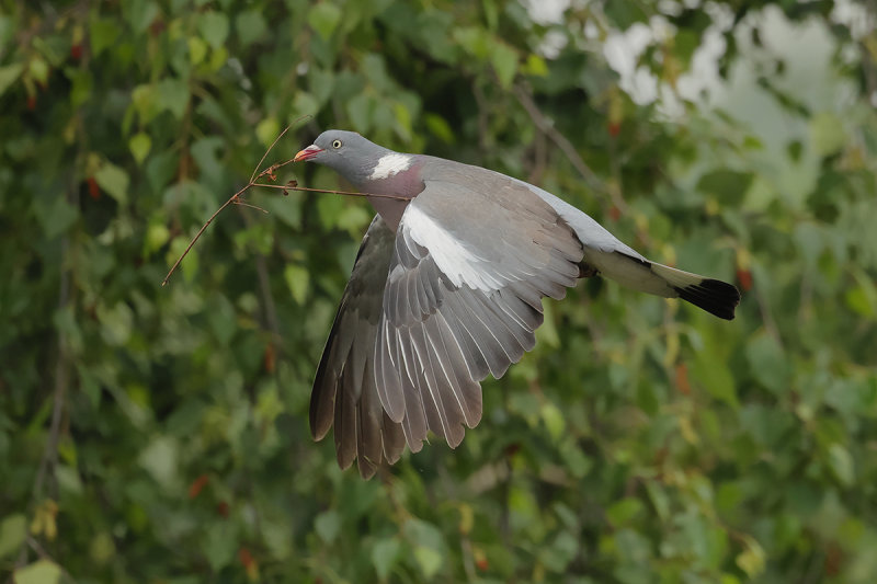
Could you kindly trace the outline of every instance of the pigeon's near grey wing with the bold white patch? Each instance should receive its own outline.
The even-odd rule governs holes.
[[[535,344],[542,298],[574,286],[582,247],[538,196],[494,175],[424,181],[396,232],[375,345],[378,396],[418,451],[456,447],[481,417],[479,381]]]

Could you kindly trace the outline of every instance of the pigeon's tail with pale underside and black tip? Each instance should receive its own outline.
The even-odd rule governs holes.
[[[628,288],[664,298],[682,298],[720,319],[732,320],[734,308],[740,304],[740,291],[727,282],[683,272],[642,256],[586,249],[584,263],[583,275],[596,270]]]

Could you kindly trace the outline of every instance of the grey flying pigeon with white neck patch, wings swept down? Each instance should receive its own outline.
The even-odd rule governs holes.
[[[299,151],[369,196],[363,238],[317,369],[310,430],[334,424],[342,469],[371,478],[429,431],[454,448],[481,420],[480,381],[533,348],[542,299],[600,274],[731,320],[740,293],[651,262],[557,196],[488,169],[327,130]]]

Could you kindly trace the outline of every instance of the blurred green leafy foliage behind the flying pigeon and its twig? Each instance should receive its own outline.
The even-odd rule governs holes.
[[[0,577],[873,582],[874,23],[0,0]],[[738,319],[589,280],[457,450],[342,472],[307,403],[367,205],[253,193],[159,285],[304,114],[270,161],[344,127],[524,178],[736,282]]]

